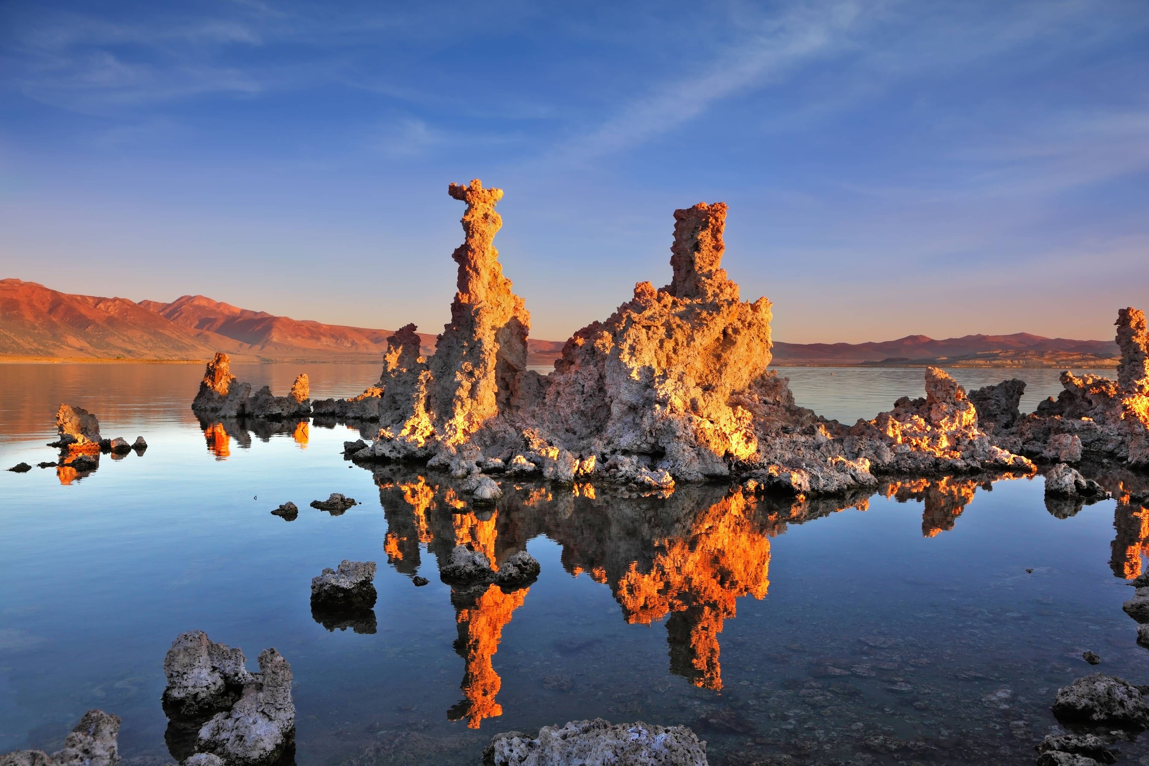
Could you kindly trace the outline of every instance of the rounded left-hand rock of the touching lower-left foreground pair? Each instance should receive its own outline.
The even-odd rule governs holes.
[[[168,678],[164,710],[169,714],[200,715],[231,706],[244,686],[252,682],[245,663],[241,649],[216,643],[203,630],[179,634],[163,658],[163,674]]]

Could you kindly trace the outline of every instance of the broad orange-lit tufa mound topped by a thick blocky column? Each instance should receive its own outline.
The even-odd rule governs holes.
[[[731,397],[770,363],[770,301],[740,302],[719,268],[725,220],[720,202],[676,210],[671,284],[639,283],[574,333],[523,421],[573,452],[661,454],[679,480],[727,475],[727,459],[753,456],[750,412]]]

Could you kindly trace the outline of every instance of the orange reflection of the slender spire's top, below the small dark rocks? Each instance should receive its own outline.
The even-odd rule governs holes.
[[[463,699],[447,712],[448,719],[466,719],[466,726],[477,729],[483,719],[502,715],[502,706],[495,702],[502,679],[495,673],[491,658],[499,651],[503,626],[523,605],[527,590],[523,588],[507,594],[492,585],[476,599],[475,606],[458,610],[455,651],[466,661],[466,671],[462,683]]]

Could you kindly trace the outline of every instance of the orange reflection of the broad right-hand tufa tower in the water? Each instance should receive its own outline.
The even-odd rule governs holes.
[[[649,573],[632,564],[616,597],[629,622],[668,621],[671,671],[708,689],[722,688],[718,634],[735,602],[763,598],[770,587],[770,539],[753,527],[741,493],[714,505],[687,537],[661,542]]]

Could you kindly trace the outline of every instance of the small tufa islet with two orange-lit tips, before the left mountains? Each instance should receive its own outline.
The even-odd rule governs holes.
[[[208,362],[200,389],[192,401],[192,410],[201,417],[282,420],[310,415],[309,395],[306,373],[295,378],[286,396],[273,395],[269,386],[252,394],[250,384],[239,382],[231,374],[231,359],[219,353]]]

